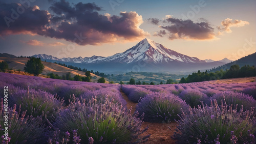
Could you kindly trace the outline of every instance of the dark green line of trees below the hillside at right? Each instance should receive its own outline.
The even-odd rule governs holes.
[[[215,73],[207,71],[197,73],[192,73],[188,75],[186,78],[182,77],[179,83],[188,83],[188,82],[199,82],[199,81],[207,81],[207,80],[216,80],[216,79],[226,79],[226,78],[238,78],[238,77],[249,77],[256,76],[256,70],[254,66],[243,66],[239,67],[239,65],[232,65],[229,70],[216,71]]]

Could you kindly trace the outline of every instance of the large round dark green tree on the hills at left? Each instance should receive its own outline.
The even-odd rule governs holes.
[[[35,57],[31,57],[24,68],[25,72],[34,74],[35,76],[38,76],[44,69],[45,66],[41,63],[41,59]]]

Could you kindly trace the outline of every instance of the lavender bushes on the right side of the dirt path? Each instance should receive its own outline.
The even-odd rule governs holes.
[[[130,100],[140,98],[134,102],[144,121],[175,120],[178,133],[172,138],[180,143],[254,143],[255,84],[122,85],[122,90]]]

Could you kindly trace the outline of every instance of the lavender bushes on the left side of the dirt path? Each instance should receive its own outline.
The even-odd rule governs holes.
[[[0,99],[1,143],[136,143],[150,136],[141,136],[148,127],[126,108],[120,85],[0,76],[9,93],[7,140]]]

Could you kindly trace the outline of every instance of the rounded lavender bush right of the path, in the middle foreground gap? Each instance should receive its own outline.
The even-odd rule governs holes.
[[[173,94],[152,93],[141,98],[136,106],[139,116],[146,122],[166,122],[177,119],[181,109],[188,109],[184,100]]]

